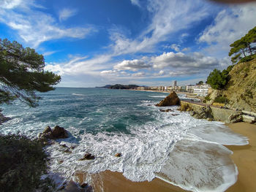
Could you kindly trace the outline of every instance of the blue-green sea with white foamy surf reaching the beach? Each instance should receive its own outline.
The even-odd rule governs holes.
[[[46,126],[64,127],[69,138],[45,147],[50,174],[72,179],[77,171],[110,170],[135,182],[158,177],[190,191],[225,191],[236,183],[233,152],[224,145],[247,145],[248,139],[224,123],[192,118],[176,106],[156,107],[167,93],[56,88],[38,95],[42,99],[36,108],[18,100],[1,105],[12,119],[0,126],[0,133],[36,138]],[[65,153],[60,144],[75,148]],[[79,161],[87,152],[95,159]]]

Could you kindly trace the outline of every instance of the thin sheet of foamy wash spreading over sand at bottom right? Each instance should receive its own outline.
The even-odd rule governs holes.
[[[222,145],[183,139],[157,177],[189,191],[225,191],[238,174],[231,153]]]

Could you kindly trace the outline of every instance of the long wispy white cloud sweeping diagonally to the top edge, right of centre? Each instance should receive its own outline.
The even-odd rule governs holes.
[[[202,1],[148,0],[151,24],[135,39],[130,39],[120,31],[110,31],[114,54],[153,53],[159,42],[166,41],[170,35],[184,28],[189,28],[210,14],[208,6]],[[196,10],[196,11],[195,11]],[[186,37],[187,34],[181,34]]]

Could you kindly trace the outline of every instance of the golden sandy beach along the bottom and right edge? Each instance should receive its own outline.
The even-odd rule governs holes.
[[[249,138],[249,145],[246,146],[226,146],[233,151],[231,158],[238,167],[238,180],[227,189],[228,192],[252,192],[256,191],[256,125],[249,123],[233,123],[227,124],[229,128],[238,134],[242,134]],[[83,183],[86,174],[78,172],[78,180]],[[94,183],[94,191],[105,192],[180,192],[185,191],[175,185],[170,185],[163,180],[155,178],[151,182],[132,182],[127,180],[120,172],[100,172],[91,175],[91,181]]]

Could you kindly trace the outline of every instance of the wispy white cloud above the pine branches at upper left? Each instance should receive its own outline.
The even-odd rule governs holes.
[[[33,1],[31,2],[33,3]],[[59,26],[51,15],[32,10],[31,6],[37,5],[31,2],[23,1],[22,4],[16,3],[12,6],[7,4],[6,7],[10,7],[8,10],[0,7],[0,22],[18,31],[20,38],[32,47],[38,47],[42,42],[64,37],[83,39],[96,31],[93,27],[66,28]],[[18,11],[11,9],[14,7],[20,9]],[[26,9],[23,9],[23,7],[26,7]]]

